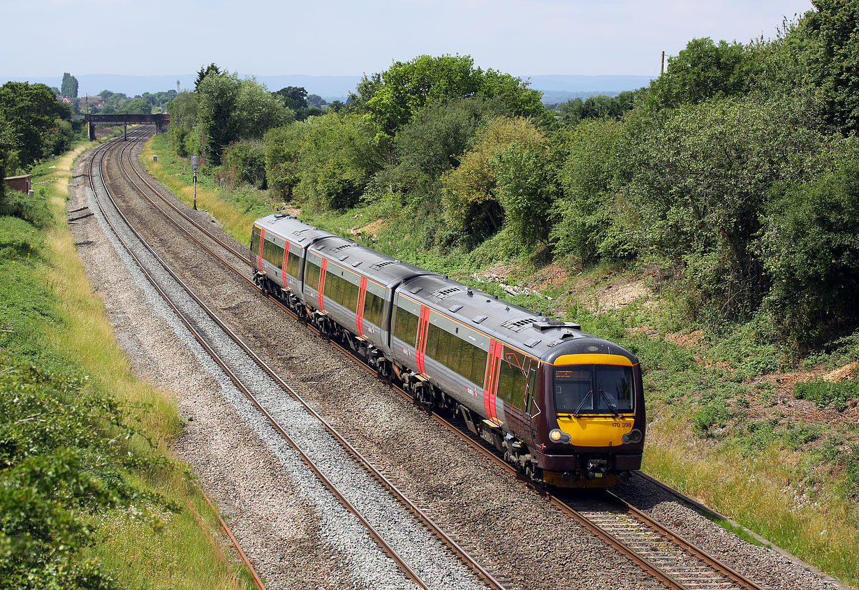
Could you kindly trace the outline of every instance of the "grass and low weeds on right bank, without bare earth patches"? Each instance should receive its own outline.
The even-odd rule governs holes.
[[[152,153],[160,161],[171,161],[165,140],[150,142],[148,149],[155,149],[147,152],[148,166]],[[151,169],[156,175],[177,174],[173,168]],[[186,190],[186,175],[159,178]],[[244,197],[227,191],[215,196],[221,204],[213,204],[211,210],[225,228],[234,235],[247,235],[256,214],[237,217],[234,211],[221,217],[216,213],[222,206],[235,209],[234,203],[243,203]],[[259,210],[261,214],[274,209],[264,196],[258,206],[242,204],[239,212]],[[575,320],[584,330],[631,350],[642,362],[647,393],[644,470],[830,575],[859,583],[859,428],[805,423],[779,413],[774,386],[756,380],[795,368],[798,359],[795,351],[771,344],[771,322],[764,313],[743,325],[716,320],[690,325],[683,293],[655,279],[650,283],[655,304],[635,302],[600,313],[593,311],[600,302],[594,287],[574,291],[562,301],[557,297],[570,293],[571,284],[543,294],[553,297],[551,301],[539,295],[511,297],[497,283],[477,282],[475,273],[504,264],[513,269],[509,283],[516,277],[527,280],[544,264],[540,252],[509,252],[503,234],[470,249],[440,247],[433,234],[441,224],[439,215],[416,211],[397,195],[348,211],[302,210],[304,221],[342,235],[375,222],[375,235],[356,240],[523,307]],[[576,275],[578,269],[572,261],[569,265],[569,274]],[[603,264],[581,274],[587,283],[599,285],[620,276],[641,277],[646,269]],[[655,337],[628,331],[648,325],[658,332]],[[697,345],[683,347],[665,338],[667,333],[695,328],[704,332]],[[813,363],[834,368],[857,358],[859,335],[844,338]],[[841,404],[849,398],[844,387],[823,391],[818,386],[807,396],[821,404]],[[757,543],[728,521],[715,521]]]

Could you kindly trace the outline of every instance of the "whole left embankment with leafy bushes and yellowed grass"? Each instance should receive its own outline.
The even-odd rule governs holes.
[[[84,143],[34,169],[0,215],[3,587],[246,587],[170,447],[174,402],[131,373],[84,273],[69,207]],[[49,166],[49,164],[51,164]]]

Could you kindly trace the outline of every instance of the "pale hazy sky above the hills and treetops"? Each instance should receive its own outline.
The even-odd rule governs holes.
[[[360,76],[421,54],[516,76],[659,74],[695,37],[772,37],[810,0],[0,0],[0,76]],[[116,40],[122,47],[114,46]]]

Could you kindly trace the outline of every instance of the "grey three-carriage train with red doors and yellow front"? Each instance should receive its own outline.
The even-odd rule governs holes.
[[[611,487],[641,468],[641,365],[618,344],[283,213],[253,223],[254,283],[523,477]]]

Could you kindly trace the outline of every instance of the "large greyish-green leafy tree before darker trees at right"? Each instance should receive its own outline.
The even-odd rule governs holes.
[[[692,313],[708,301],[722,317],[747,318],[768,289],[754,247],[764,195],[810,178],[829,154],[813,107],[801,97],[709,100],[631,121],[626,133],[620,193],[637,210],[632,238],[685,273],[699,298]]]

